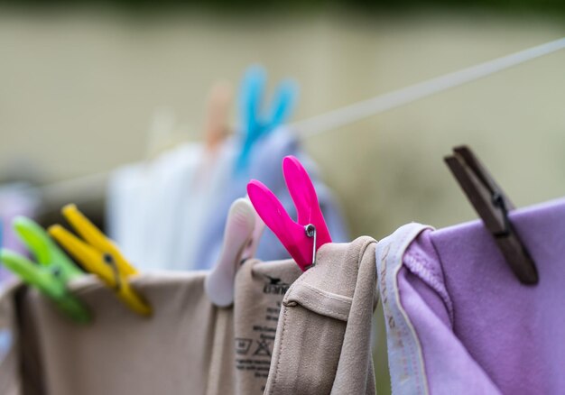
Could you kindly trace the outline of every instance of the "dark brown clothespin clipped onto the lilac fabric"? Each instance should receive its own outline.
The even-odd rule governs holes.
[[[453,155],[445,157],[444,161],[495,238],[514,274],[523,284],[536,284],[535,263],[508,218],[508,212],[514,209],[512,202],[468,147],[454,148]]]

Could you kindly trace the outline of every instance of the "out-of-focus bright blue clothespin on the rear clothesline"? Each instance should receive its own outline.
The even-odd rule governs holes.
[[[252,66],[245,72],[239,94],[239,111],[244,138],[236,161],[237,172],[245,170],[255,142],[286,122],[296,104],[297,84],[291,79],[283,79],[275,90],[271,106],[264,109],[266,81],[267,75],[261,66]]]

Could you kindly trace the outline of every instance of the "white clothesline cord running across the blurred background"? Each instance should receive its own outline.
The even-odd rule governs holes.
[[[498,71],[510,69],[528,60],[534,60],[564,48],[565,37],[496,58],[495,60],[489,60],[467,69],[427,79],[410,87],[403,87],[402,89],[375,96],[350,106],[338,108],[326,114],[316,115],[290,124],[290,127],[296,130],[301,138],[315,136],[338,129],[347,124],[353,124],[368,116],[377,115],[421,98],[440,93],[452,87],[458,87],[484,78]],[[102,198],[101,194],[104,194],[107,177],[107,172],[100,172],[76,179],[58,181],[43,186],[42,195],[48,201],[58,201],[60,198],[66,198],[69,195],[77,199],[89,197],[88,200],[91,200],[95,197],[98,198],[98,195],[100,195],[99,198]]]

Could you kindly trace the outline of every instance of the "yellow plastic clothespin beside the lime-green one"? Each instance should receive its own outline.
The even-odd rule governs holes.
[[[128,308],[142,316],[151,315],[151,307],[129,284],[129,279],[137,271],[125,260],[116,244],[88,221],[75,205],[63,207],[62,214],[84,241],[61,225],[52,225],[49,234],[87,271],[96,274],[108,287],[114,289],[118,299]]]

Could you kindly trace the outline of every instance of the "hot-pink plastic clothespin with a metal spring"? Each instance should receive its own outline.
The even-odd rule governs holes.
[[[247,184],[247,193],[257,214],[281,241],[302,271],[316,263],[316,252],[325,243],[331,243],[328,225],[320,209],[316,189],[308,172],[293,156],[282,160],[284,181],[298,213],[293,221],[281,202],[263,183],[253,179]]]

